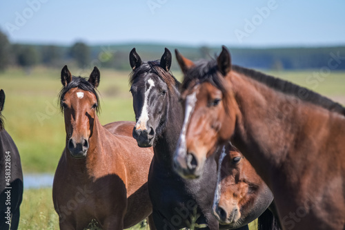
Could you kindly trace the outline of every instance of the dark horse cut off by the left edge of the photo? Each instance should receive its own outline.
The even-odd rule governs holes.
[[[1,111],[5,93],[0,90],[0,229],[18,229],[23,200],[23,172],[19,151],[6,132]]]

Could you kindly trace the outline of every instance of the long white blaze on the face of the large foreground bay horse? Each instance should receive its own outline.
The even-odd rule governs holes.
[[[177,142],[177,155],[176,157],[183,157],[186,155],[186,133],[187,126],[191,113],[194,111],[195,103],[197,102],[197,90],[186,97],[186,111],[184,113],[184,124],[179,134],[179,141]]]

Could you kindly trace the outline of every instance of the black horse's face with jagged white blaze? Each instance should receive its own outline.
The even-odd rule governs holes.
[[[168,86],[154,73],[138,77],[132,84],[133,109],[137,124],[133,137],[140,147],[150,147],[166,118]]]

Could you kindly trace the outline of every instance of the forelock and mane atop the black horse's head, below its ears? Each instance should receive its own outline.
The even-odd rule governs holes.
[[[132,85],[137,77],[147,73],[155,73],[155,75],[160,77],[168,85],[170,90],[172,87],[179,87],[179,81],[177,81],[170,71],[166,72],[166,70],[161,68],[161,66],[159,66],[159,61],[147,61],[138,68],[135,68],[135,70],[130,73],[129,83]]]

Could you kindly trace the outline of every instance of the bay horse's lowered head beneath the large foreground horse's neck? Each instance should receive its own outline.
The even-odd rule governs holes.
[[[221,224],[236,228],[261,215],[273,195],[241,153],[224,150],[219,158],[213,215]]]

